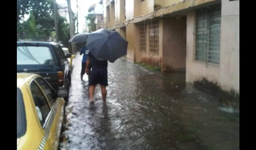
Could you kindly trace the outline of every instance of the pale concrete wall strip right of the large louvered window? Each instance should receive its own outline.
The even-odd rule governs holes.
[[[220,85],[239,93],[239,0],[221,3]]]

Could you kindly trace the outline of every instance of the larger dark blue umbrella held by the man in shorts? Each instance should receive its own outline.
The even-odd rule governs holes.
[[[99,29],[88,35],[86,47],[96,59],[114,62],[127,54],[128,42],[118,32]]]

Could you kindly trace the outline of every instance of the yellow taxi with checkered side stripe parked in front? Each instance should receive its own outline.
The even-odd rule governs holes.
[[[17,150],[58,149],[67,95],[37,74],[17,73]]]

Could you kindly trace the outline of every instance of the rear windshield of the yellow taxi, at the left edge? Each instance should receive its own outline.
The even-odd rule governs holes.
[[[23,95],[20,89],[17,88],[17,138],[22,137],[26,133],[26,129],[27,122]]]

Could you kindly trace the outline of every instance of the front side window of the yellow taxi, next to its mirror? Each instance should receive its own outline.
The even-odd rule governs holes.
[[[55,99],[57,98],[57,94],[42,78],[36,78],[36,82],[41,86],[43,92],[45,93],[46,97],[48,98],[52,106]]]

